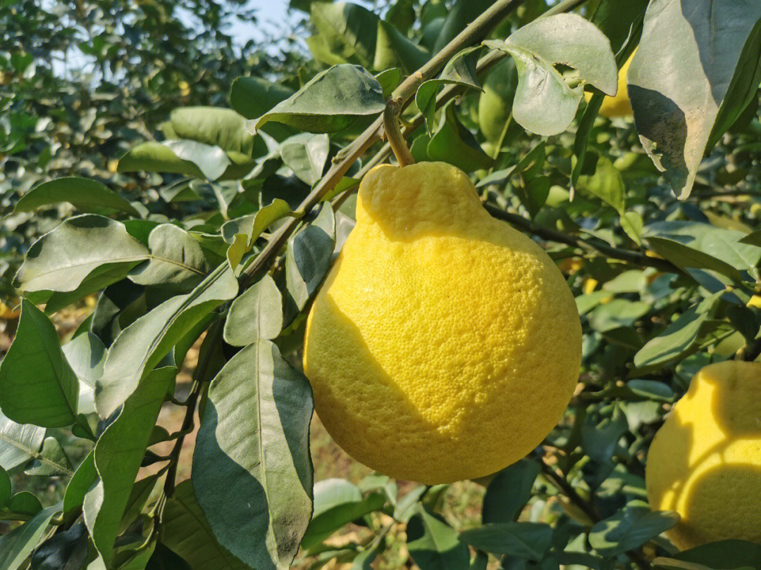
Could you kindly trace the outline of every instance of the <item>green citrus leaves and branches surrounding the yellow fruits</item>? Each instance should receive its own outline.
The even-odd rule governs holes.
[[[197,36],[170,2],[0,4],[5,250],[45,233],[15,273],[0,365],[0,518],[14,521],[0,568],[368,568],[393,553],[422,570],[761,568],[761,546],[739,540],[677,552],[661,533],[678,515],[652,511],[644,483],[693,373],[761,353],[758,5],[291,4],[311,56],[282,65],[234,55],[206,2],[183,3],[208,24]],[[95,83],[46,59],[74,44]],[[633,123],[597,116],[637,47]],[[415,160],[465,170],[492,216],[537,239],[584,328],[562,422],[480,481],[480,524],[444,518],[447,486],[314,483],[305,313],[358,179],[390,155],[392,94]],[[93,293],[61,344],[50,315]],[[185,410],[178,432],[155,426],[165,402]],[[19,489],[26,477],[57,482],[59,502]],[[331,541],[347,524],[367,532]]]

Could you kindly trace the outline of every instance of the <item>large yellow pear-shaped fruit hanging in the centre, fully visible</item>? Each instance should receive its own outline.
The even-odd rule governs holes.
[[[304,372],[333,439],[403,480],[483,477],[539,445],[581,363],[559,269],[447,163],[372,169],[307,320]]]

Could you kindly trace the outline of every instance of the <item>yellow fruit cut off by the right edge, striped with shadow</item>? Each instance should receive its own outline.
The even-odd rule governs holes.
[[[650,506],[677,511],[680,549],[724,539],[761,543],[761,364],[705,366],[655,434]]]

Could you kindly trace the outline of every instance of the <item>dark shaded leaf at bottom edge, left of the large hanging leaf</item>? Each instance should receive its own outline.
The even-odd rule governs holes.
[[[248,570],[214,537],[193,493],[193,483],[183,481],[164,508],[164,543],[182,556],[193,570]]]

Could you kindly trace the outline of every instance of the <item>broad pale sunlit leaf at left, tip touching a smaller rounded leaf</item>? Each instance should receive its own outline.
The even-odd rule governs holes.
[[[85,296],[122,280],[147,255],[148,249],[123,223],[84,214],[65,220],[33,243],[14,286],[22,292],[78,291]]]

